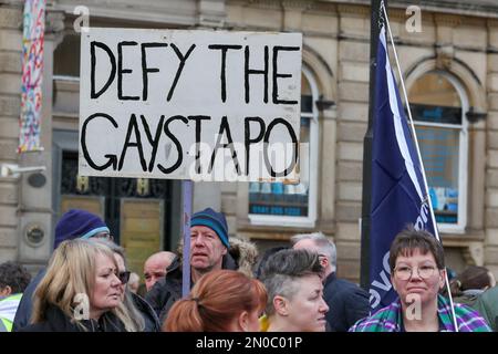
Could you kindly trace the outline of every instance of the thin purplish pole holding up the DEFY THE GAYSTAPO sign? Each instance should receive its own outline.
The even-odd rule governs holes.
[[[183,275],[181,275],[181,298],[186,298],[190,293],[190,218],[191,218],[191,196],[193,196],[193,181],[184,180],[181,183],[183,190],[183,218],[181,223],[183,237],[184,237],[184,261],[183,261]]]

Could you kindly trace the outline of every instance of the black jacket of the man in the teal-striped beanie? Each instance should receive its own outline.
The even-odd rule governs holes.
[[[237,270],[238,264],[235,259],[227,252],[221,263],[222,269]],[[172,264],[167,268],[167,275],[158,280],[149,292],[145,295],[145,300],[156,312],[159,322],[164,323],[173,304],[181,299],[181,262],[176,257]],[[194,284],[190,281],[190,289]]]

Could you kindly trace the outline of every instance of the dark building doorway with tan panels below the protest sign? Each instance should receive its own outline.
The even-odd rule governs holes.
[[[125,248],[128,269],[142,274],[152,253],[172,249],[172,185],[167,179],[81,177],[77,153],[62,152],[56,219],[73,208],[101,216]]]

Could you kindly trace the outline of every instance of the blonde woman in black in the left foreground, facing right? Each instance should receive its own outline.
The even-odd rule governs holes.
[[[135,332],[123,305],[122,282],[113,251],[74,239],[52,254],[34,292],[31,324],[22,332]]]

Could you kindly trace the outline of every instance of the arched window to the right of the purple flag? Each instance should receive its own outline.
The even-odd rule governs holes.
[[[452,75],[432,71],[411,87],[409,103],[437,225],[442,231],[463,232],[468,154],[465,90]]]

